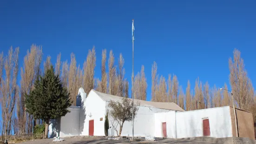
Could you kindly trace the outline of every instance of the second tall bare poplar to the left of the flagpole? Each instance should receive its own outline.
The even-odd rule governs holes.
[[[117,95],[118,93],[118,85],[117,82],[117,72],[116,72],[116,66],[115,63],[115,57],[112,52],[112,50],[109,52],[109,59],[108,59],[108,93],[112,95]]]

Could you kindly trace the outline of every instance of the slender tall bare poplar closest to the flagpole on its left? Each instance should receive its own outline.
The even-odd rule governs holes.
[[[122,53],[119,55],[118,59],[118,96],[124,97],[124,76],[125,76],[125,69],[124,69],[125,59],[123,58]]]

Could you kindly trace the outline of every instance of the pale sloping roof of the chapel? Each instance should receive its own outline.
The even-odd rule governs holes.
[[[118,97],[118,96],[98,92],[98,91],[95,91],[93,89],[92,89],[92,91],[94,91],[96,94],[98,94],[98,96],[100,98],[102,98],[104,101],[107,101],[107,102],[110,102],[111,100],[120,102],[121,98],[122,98],[122,97]],[[165,109],[165,110],[173,110],[173,111],[184,111],[181,107],[179,107],[175,103],[151,102],[151,101],[134,99],[134,105],[136,105],[137,102],[140,104],[140,106],[145,106],[145,107],[154,107],[154,108]]]

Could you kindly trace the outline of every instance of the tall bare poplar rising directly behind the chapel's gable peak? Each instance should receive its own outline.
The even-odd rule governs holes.
[[[93,46],[92,50],[88,51],[86,61],[84,63],[84,89],[85,93],[89,93],[94,87],[94,69],[96,66],[96,52]]]

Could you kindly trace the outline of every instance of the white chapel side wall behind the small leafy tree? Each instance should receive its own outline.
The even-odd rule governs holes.
[[[107,102],[108,105],[108,102]],[[139,106],[137,116],[134,118],[134,136],[135,137],[145,137],[145,136],[154,136],[155,135],[155,113],[170,111],[152,107]],[[109,116],[109,125],[112,124],[112,118]],[[116,123],[114,123],[116,124]],[[119,133],[119,125],[118,125]],[[132,136],[132,121],[125,122],[123,125],[123,130],[121,136]],[[115,131],[115,136],[117,132]]]

